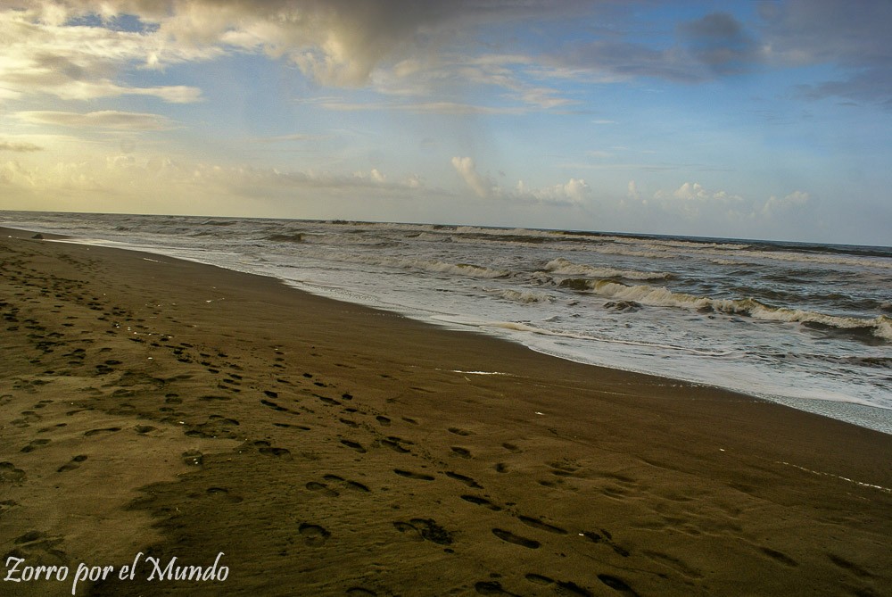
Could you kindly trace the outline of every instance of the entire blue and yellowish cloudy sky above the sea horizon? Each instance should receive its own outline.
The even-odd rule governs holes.
[[[892,245],[886,0],[0,0],[0,210]]]

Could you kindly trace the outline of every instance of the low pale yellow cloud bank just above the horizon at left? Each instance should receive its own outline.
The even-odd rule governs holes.
[[[192,162],[161,153],[87,154],[78,162],[0,162],[0,188],[7,205],[15,204],[16,209],[28,207],[21,201],[32,197],[45,209],[63,209],[71,201],[82,210],[114,211],[136,204],[161,213],[201,213],[238,202],[235,212],[244,213],[245,201],[257,202],[255,210],[268,202],[287,209],[296,201],[321,208],[332,201],[357,204],[357,196],[369,202],[397,202],[419,191],[440,193],[425,189],[417,176],[391,181],[376,169],[353,174],[282,171]]]

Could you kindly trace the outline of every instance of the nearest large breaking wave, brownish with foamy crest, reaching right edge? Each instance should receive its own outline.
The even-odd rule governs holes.
[[[817,324],[847,331],[864,330],[892,342],[892,318],[879,315],[872,319],[828,315],[817,311],[774,307],[753,298],[717,299],[695,294],[673,293],[665,286],[626,286],[610,280],[588,280],[588,289],[599,296],[634,301],[657,307],[681,307],[692,311],[715,311],[729,315],[747,315],[754,319],[789,323]]]

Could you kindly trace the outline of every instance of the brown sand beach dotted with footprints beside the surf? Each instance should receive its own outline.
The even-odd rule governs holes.
[[[30,236],[0,230],[0,553],[70,576],[0,593],[84,562],[114,570],[78,595],[892,594],[890,435]]]

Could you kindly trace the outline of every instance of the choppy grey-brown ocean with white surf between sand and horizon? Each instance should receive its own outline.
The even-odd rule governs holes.
[[[0,221],[892,434],[892,247],[340,220],[3,211]]]

